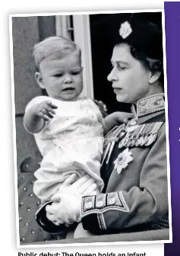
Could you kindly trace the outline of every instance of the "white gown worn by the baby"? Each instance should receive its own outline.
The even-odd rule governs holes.
[[[99,170],[103,154],[103,117],[99,108],[89,98],[58,101],[39,96],[30,101],[26,111],[42,101],[52,101],[58,109],[43,130],[34,133],[43,155],[40,168],[34,173],[37,179],[34,193],[42,203],[51,200],[72,173],[76,173],[77,178],[89,174],[101,191],[103,180]]]

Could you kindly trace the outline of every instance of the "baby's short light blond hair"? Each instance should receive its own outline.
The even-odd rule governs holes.
[[[36,43],[33,47],[33,59],[35,62],[36,70],[39,71],[40,62],[52,54],[57,53],[58,58],[62,59],[70,53],[77,51],[81,59],[80,47],[71,40],[65,37],[47,37],[40,43]]]

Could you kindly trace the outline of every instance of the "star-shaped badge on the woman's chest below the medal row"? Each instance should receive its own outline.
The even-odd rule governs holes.
[[[133,160],[131,157],[132,153],[129,151],[128,148],[126,148],[122,153],[118,155],[118,157],[115,159],[115,170],[120,174],[122,172],[122,169],[125,169],[128,166],[128,163]]]

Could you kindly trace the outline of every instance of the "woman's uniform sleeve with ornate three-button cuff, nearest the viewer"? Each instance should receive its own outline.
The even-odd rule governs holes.
[[[84,229],[131,228],[161,219],[168,213],[165,124],[159,133],[142,166],[139,187],[83,198]]]

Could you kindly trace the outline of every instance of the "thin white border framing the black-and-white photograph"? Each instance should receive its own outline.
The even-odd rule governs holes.
[[[166,112],[166,156],[167,156],[167,174],[168,174],[168,197],[169,197],[169,240],[157,241],[135,241],[135,242],[90,242],[90,243],[71,243],[71,244],[40,244],[36,242],[28,245],[20,244],[19,236],[19,216],[18,216],[18,192],[17,192],[17,148],[16,148],[16,126],[15,126],[15,103],[14,103],[14,59],[13,59],[13,38],[12,38],[12,18],[31,17],[31,16],[52,16],[52,15],[82,15],[82,14],[122,14],[138,12],[161,12],[163,26],[163,67],[164,67],[164,89],[165,89],[165,112]],[[85,245],[133,245],[133,244],[155,244],[172,242],[172,209],[171,209],[171,185],[170,185],[170,163],[169,163],[169,119],[168,119],[168,94],[166,78],[166,31],[165,31],[165,13],[163,9],[142,9],[142,10],[123,10],[123,11],[73,11],[73,12],[55,12],[55,13],[31,13],[31,14],[10,14],[9,15],[10,32],[10,53],[11,53],[11,101],[12,101],[12,120],[13,120],[13,146],[14,146],[14,186],[15,186],[15,204],[16,204],[16,232],[17,248],[48,248],[48,247],[66,247],[66,246],[85,246]],[[82,238],[83,239],[83,238]]]

